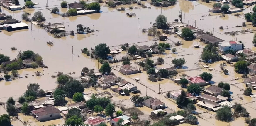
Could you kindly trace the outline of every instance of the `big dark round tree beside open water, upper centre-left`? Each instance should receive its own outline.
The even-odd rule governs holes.
[[[108,53],[110,53],[110,49],[106,43],[100,43],[95,46],[95,55],[101,59],[106,59]]]

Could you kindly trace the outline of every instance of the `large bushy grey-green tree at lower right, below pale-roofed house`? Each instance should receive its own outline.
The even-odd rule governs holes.
[[[233,119],[232,115],[231,108],[225,105],[216,112],[215,117],[220,121],[230,122]]]

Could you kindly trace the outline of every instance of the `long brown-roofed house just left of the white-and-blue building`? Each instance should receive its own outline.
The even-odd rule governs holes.
[[[220,42],[224,41],[220,38],[217,38],[217,37],[209,35],[209,34],[203,34],[200,37],[200,40],[204,43],[212,43],[214,46],[217,46]]]

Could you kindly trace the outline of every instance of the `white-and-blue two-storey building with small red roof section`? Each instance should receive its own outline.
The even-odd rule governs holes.
[[[230,42],[221,42],[219,43],[219,52],[224,53],[227,50],[231,49],[236,51],[242,50],[243,44],[240,42],[230,41]]]

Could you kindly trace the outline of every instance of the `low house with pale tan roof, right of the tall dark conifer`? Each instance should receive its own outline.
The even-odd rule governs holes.
[[[209,111],[217,111],[217,110],[223,108],[220,104],[210,101],[210,100],[207,100],[207,99],[199,101],[196,105],[199,107],[205,108]]]

